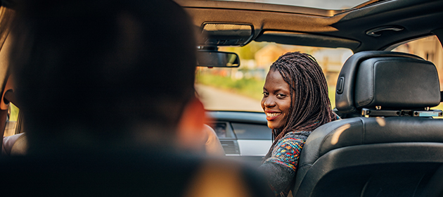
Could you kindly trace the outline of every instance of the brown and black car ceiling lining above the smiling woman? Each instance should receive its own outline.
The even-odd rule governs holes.
[[[443,28],[441,0],[368,1],[348,10],[240,1],[175,1],[188,11],[195,27],[208,22],[251,24],[252,39],[257,42],[345,47],[358,52],[383,50],[431,34],[442,39],[436,33]],[[379,37],[366,34],[377,28]]]

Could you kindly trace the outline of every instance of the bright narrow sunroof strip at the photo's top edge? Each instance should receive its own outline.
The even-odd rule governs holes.
[[[289,6],[321,8],[328,10],[342,10],[358,6],[359,4],[363,4],[368,0],[333,0],[333,1],[331,0],[223,0],[223,1],[258,2],[266,4],[281,4]]]

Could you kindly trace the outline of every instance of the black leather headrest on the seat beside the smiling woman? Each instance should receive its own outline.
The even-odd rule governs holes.
[[[439,103],[435,65],[412,54],[391,51],[363,51],[349,57],[335,91],[335,106],[341,113],[375,106],[424,109]]]

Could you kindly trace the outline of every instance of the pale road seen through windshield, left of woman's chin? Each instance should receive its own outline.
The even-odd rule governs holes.
[[[214,87],[195,84],[200,100],[207,110],[241,110],[262,112],[260,101]]]

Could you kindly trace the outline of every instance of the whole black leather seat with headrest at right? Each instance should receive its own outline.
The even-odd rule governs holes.
[[[302,149],[295,196],[443,196],[443,120],[435,65],[365,51],[340,72],[336,106],[361,113],[322,125]]]

